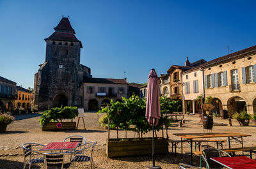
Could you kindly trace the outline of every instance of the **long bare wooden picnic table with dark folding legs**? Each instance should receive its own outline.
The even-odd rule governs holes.
[[[230,146],[230,140],[236,140],[236,142],[241,143],[243,147],[243,136],[252,136],[241,133],[223,132],[223,133],[173,133],[175,136],[179,136],[181,139],[181,157],[183,158],[183,147],[182,142],[188,142],[190,144],[190,163],[193,165],[193,139],[198,138],[217,138],[217,137],[228,137],[228,147]],[[241,140],[239,140],[241,138]],[[184,139],[184,140],[183,140]]]

